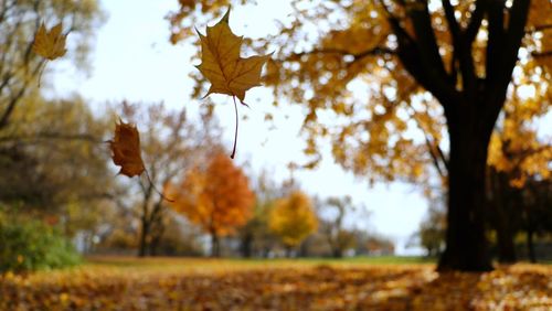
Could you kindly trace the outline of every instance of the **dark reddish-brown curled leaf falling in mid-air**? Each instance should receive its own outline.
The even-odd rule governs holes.
[[[146,170],[140,156],[140,135],[135,125],[125,124],[119,119],[115,125],[115,137],[108,142],[113,162],[120,167],[119,174],[132,178]]]

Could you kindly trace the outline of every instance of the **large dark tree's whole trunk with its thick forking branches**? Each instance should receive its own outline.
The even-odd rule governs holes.
[[[530,0],[476,0],[467,26],[455,18],[449,0],[443,9],[453,42],[450,68],[446,68],[425,6],[405,8],[414,35],[404,19],[381,1],[397,39],[396,54],[405,69],[440,103],[447,119],[448,214],[446,249],[438,270],[486,271],[492,268],[485,238],[487,148],[507,97],[518,51],[524,35]],[[403,6],[405,2],[395,1]],[[487,20],[485,75],[475,69],[471,46],[482,20]]]

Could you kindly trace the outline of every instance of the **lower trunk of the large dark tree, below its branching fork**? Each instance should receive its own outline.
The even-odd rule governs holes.
[[[471,104],[473,103],[455,103]],[[447,116],[448,213],[446,249],[437,270],[488,271],[492,269],[485,237],[485,179],[490,130],[477,126],[477,111]]]

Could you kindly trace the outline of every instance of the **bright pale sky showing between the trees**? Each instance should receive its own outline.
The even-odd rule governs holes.
[[[199,100],[190,100],[193,85],[188,73],[195,71],[189,62],[191,47],[171,45],[164,15],[176,9],[177,0],[117,0],[102,1],[107,21],[97,31],[95,50],[91,57],[89,76],[77,74],[64,63],[55,67],[55,93],[66,96],[77,93],[96,105],[123,99],[139,103],[164,101],[170,107],[185,106],[191,115],[198,114]],[[255,37],[263,31],[274,31],[274,20],[286,15],[285,1],[258,0],[258,7],[234,6],[231,26],[238,35]],[[245,21],[248,23],[245,25]],[[213,21],[214,23],[216,21]],[[210,24],[212,24],[210,23]],[[198,25],[203,31],[205,25]],[[215,109],[226,129],[225,142],[231,149],[234,135],[234,111],[231,99],[214,97]],[[299,107],[278,108],[275,129],[264,122],[264,109],[272,106],[270,92],[257,87],[247,93],[252,109],[242,109],[247,120],[240,122],[236,160],[250,162],[254,170],[266,169],[276,180],[289,176],[286,165],[301,163],[302,139],[298,138]],[[333,163],[329,152],[319,169],[294,174],[302,190],[321,197],[351,195],[353,202],[371,212],[367,219],[354,223],[359,228],[378,232],[393,238],[399,254],[418,254],[421,249],[405,248],[408,236],[417,229],[426,211],[422,195],[408,184],[376,184],[346,173]]]

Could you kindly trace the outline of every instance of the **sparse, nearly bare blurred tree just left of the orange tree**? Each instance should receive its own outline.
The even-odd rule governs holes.
[[[139,199],[135,207],[140,223],[138,256],[155,255],[157,242],[166,230],[167,203],[159,190],[192,165],[200,154],[201,143],[215,139],[206,135],[214,132],[202,131],[189,122],[184,109],[173,111],[163,104],[142,106],[123,101],[120,111],[121,118],[138,125],[142,159],[149,175],[149,180],[146,176],[136,179]],[[203,122],[201,126],[213,125]]]

